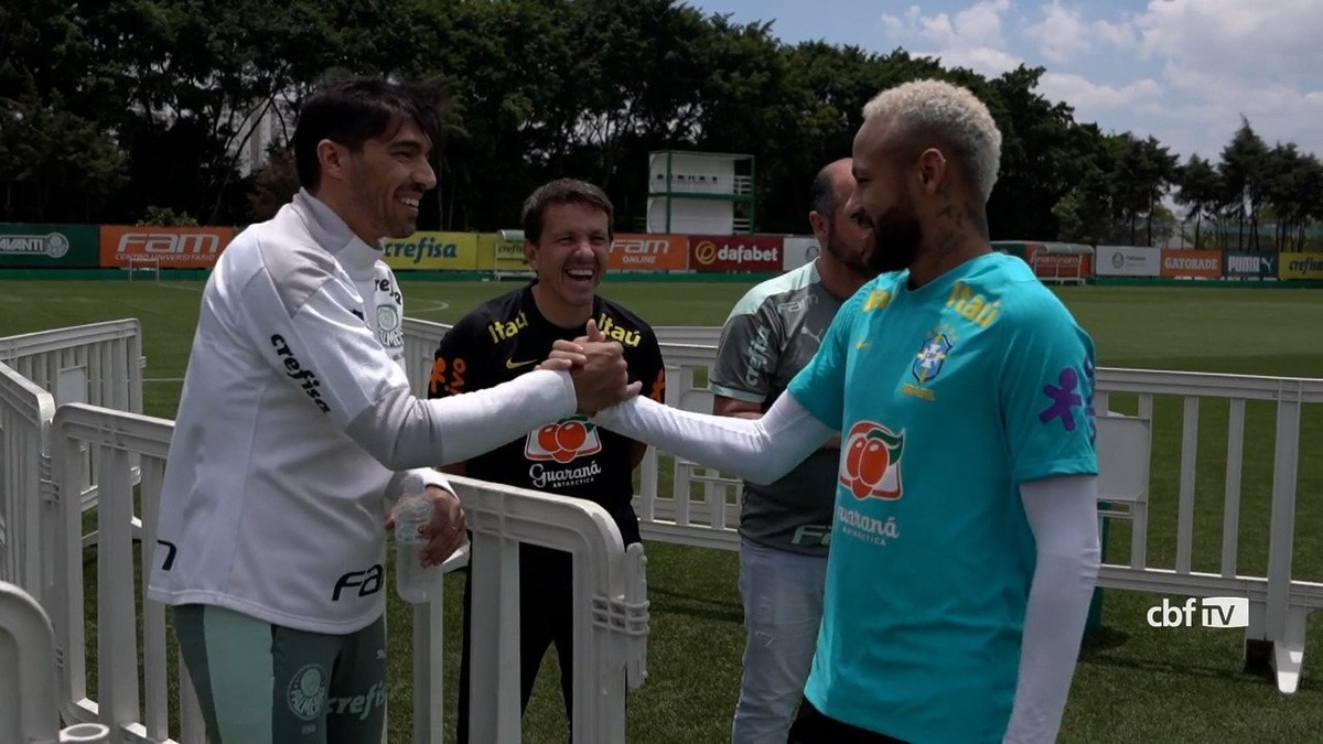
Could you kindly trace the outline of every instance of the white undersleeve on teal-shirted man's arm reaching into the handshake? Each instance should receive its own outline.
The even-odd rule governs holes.
[[[693,413],[639,396],[599,412],[594,421],[754,483],[790,473],[835,433],[789,392],[758,420]]]

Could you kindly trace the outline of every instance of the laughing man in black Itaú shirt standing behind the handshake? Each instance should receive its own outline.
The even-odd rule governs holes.
[[[524,256],[537,278],[464,315],[437,348],[429,397],[499,385],[532,371],[557,339],[586,334],[589,320],[624,347],[631,383],[660,401],[665,391],[662,348],[652,328],[624,307],[597,295],[611,246],[613,207],[597,187],[561,179],[524,203]],[[632,471],[647,445],[570,416],[529,432],[448,471],[483,481],[576,496],[601,504],[626,545],[639,541],[630,504]],[[570,553],[520,545],[520,706],[528,699],[542,655],[556,643],[565,715],[573,711],[573,575]],[[470,555],[470,563],[482,560]],[[472,573],[470,573],[470,577]],[[464,585],[464,647],[459,671],[456,735],[468,741],[471,590]],[[573,725],[573,721],[570,721]]]

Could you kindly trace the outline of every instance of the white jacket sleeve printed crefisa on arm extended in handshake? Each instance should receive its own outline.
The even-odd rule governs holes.
[[[258,271],[243,286],[241,302],[229,304],[241,314],[257,352],[304,392],[327,425],[386,467],[468,459],[574,413],[574,384],[566,372],[534,371],[448,398],[415,397],[404,371],[353,312],[359,301],[349,282],[318,279],[278,291],[270,275]]]

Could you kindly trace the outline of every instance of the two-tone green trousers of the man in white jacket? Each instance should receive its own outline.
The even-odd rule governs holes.
[[[180,605],[175,630],[212,744],[381,744],[385,618],[328,635]]]

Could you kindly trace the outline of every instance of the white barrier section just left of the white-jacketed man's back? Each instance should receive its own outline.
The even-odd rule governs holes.
[[[167,669],[165,608],[143,600],[146,586],[135,582],[135,564],[151,565],[155,544],[134,545],[132,457],[142,463],[140,510],[143,530],[156,532],[157,504],[165,455],[173,425],[163,418],[115,412],[83,404],[62,405],[52,425],[50,449],[56,498],[50,530],[44,536],[54,552],[53,581],[45,586],[46,606],[56,626],[60,650],[61,702],[65,720],[103,723],[115,741],[169,741],[169,680],[179,680],[180,741],[201,744],[205,728],[188,675],[181,666]],[[86,605],[83,602],[83,543],[79,492],[89,477],[91,450],[101,487],[97,503],[97,690],[87,690]],[[136,555],[135,555],[136,553]],[[142,642],[138,617],[142,613]],[[139,696],[139,676],[143,695]]]

